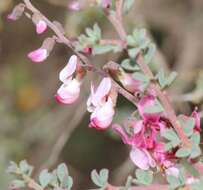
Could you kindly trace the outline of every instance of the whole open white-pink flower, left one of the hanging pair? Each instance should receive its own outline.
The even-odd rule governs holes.
[[[55,98],[64,104],[74,103],[80,95],[81,81],[74,78],[73,75],[77,75],[78,58],[72,55],[68,61],[68,64],[61,70],[59,79],[63,84],[58,89]]]

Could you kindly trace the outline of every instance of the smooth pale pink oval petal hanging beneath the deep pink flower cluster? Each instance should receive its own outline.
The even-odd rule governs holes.
[[[150,167],[149,158],[143,150],[133,147],[130,152],[130,158],[133,161],[133,163],[140,169],[142,170],[149,169]]]

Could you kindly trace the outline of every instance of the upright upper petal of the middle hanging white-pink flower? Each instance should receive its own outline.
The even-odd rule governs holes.
[[[98,106],[101,104],[103,98],[109,94],[111,90],[111,79],[106,77],[100,82],[95,94],[92,97],[92,104]]]

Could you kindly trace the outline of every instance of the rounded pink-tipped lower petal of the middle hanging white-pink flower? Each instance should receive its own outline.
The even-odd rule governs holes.
[[[103,106],[97,107],[90,117],[90,126],[97,129],[106,129],[109,127],[113,120],[115,111],[111,99],[108,100]]]

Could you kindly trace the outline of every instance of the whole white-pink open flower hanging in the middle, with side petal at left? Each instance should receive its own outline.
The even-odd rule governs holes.
[[[91,112],[90,127],[106,129],[114,116],[114,104],[110,97],[111,79],[104,78],[96,91],[91,85],[91,94],[87,100],[87,110]]]

